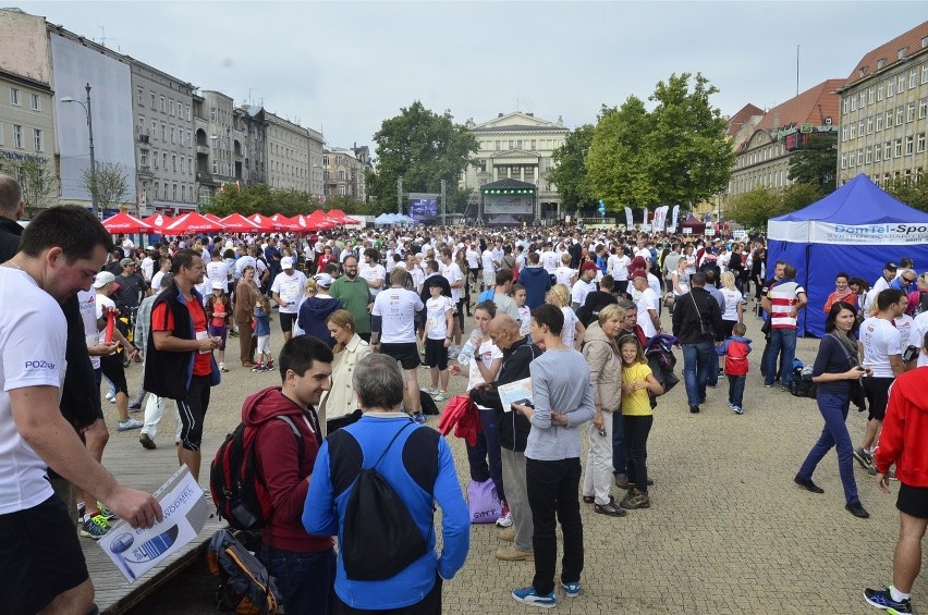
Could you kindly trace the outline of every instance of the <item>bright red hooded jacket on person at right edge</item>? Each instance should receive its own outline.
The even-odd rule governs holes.
[[[877,471],[895,476],[908,487],[928,487],[928,367],[906,371],[890,389],[880,443],[874,453]]]

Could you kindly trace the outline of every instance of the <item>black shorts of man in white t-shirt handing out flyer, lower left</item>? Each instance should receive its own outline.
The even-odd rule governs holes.
[[[38,613],[89,578],[74,522],[58,495],[0,515],[0,575],[4,613]]]

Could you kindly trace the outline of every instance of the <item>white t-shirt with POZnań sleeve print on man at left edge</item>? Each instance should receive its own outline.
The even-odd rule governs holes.
[[[54,493],[48,465],[20,435],[10,391],[61,389],[68,325],[61,306],[25,272],[0,267],[0,515],[38,506]]]

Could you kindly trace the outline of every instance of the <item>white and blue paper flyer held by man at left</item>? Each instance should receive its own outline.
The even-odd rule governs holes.
[[[164,514],[160,524],[133,529],[120,520],[98,542],[130,583],[196,538],[209,517],[209,503],[186,466],[154,495]]]

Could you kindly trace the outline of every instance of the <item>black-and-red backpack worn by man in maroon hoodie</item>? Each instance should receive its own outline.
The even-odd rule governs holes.
[[[303,458],[303,435],[288,416],[274,417],[290,426]],[[209,465],[209,491],[216,512],[237,530],[260,529],[273,514],[270,494],[255,459],[255,438],[259,427],[239,423],[225,436]]]

